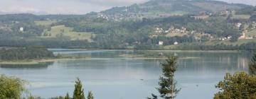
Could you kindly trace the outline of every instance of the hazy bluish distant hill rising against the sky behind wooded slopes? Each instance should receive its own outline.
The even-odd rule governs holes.
[[[159,17],[174,16],[184,13],[218,12],[225,9],[245,8],[245,4],[228,4],[223,1],[209,0],[151,0],[144,4],[114,7],[100,12],[105,16],[118,17]]]

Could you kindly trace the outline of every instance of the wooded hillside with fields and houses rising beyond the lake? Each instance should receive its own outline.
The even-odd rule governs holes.
[[[213,9],[206,7],[209,5]],[[134,8],[139,11],[132,11]],[[179,9],[193,11],[165,17],[158,13],[152,13],[154,17],[127,14]],[[86,15],[0,15],[0,46],[254,50],[248,46],[256,42],[255,11],[254,6],[220,1],[161,0]]]

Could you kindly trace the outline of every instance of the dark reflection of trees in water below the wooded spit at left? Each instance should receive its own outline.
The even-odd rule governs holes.
[[[41,62],[40,64],[0,64],[4,69],[47,69],[53,62]]]

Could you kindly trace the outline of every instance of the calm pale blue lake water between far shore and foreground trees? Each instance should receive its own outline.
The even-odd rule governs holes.
[[[176,81],[181,88],[177,99],[213,98],[215,84],[226,72],[248,71],[250,52],[127,51],[127,50],[52,50],[55,54],[91,57],[86,60],[56,61],[33,66],[0,65],[0,74],[17,76],[30,82],[33,95],[50,98],[73,95],[79,77],[85,91],[95,98],[143,99],[157,93],[162,59],[132,59],[123,54],[169,54],[180,57]]]

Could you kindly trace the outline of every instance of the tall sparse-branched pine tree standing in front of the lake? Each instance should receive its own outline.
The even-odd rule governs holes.
[[[174,73],[177,69],[178,57],[169,57],[166,62],[162,64],[163,76],[159,78],[159,88],[161,98],[174,99],[180,88],[176,88],[176,81],[174,79]]]

